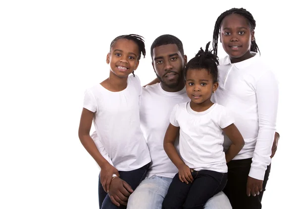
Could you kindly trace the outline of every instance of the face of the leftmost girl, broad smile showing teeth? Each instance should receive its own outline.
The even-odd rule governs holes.
[[[128,77],[139,64],[139,48],[132,40],[119,39],[107,54],[106,62],[117,77]]]

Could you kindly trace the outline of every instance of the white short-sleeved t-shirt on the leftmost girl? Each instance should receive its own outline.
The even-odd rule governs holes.
[[[137,76],[129,76],[122,91],[112,92],[97,84],[85,93],[83,107],[95,113],[93,121],[98,135],[95,143],[99,151],[105,149],[102,156],[120,171],[138,169],[150,162],[140,128],[141,94]]]

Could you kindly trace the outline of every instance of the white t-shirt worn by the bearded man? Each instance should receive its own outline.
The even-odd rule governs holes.
[[[177,167],[164,151],[163,142],[174,105],[189,100],[186,88],[178,92],[168,92],[161,88],[160,83],[147,85],[143,88],[140,122],[151,157],[148,177],[157,175],[173,178],[178,172]],[[178,144],[178,140],[176,144]]]

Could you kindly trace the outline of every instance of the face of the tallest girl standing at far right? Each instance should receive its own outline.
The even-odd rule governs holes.
[[[233,63],[244,61],[253,55],[250,44],[254,40],[254,31],[248,20],[239,14],[226,16],[221,24],[220,38],[224,50]]]

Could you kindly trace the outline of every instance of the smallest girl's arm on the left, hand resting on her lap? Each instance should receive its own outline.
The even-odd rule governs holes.
[[[179,127],[169,124],[164,137],[164,150],[168,155],[169,159],[179,170],[179,179],[182,182],[193,182],[193,176],[191,169],[183,162],[183,160],[178,155],[178,152],[174,146],[174,142],[179,132]]]

